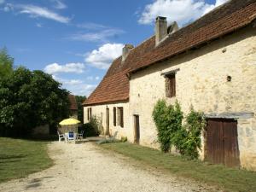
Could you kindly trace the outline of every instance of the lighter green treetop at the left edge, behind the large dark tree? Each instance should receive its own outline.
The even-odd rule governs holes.
[[[13,72],[14,58],[8,55],[7,49],[0,49],[0,79],[8,77]]]

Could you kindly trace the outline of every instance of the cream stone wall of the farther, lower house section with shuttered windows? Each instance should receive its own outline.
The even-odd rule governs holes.
[[[116,124],[116,126],[113,125],[113,107],[124,108],[123,109],[124,110],[124,127],[120,127],[118,124]],[[130,141],[133,141],[133,131],[131,130],[130,121],[129,121],[129,102],[119,102],[119,103],[84,107],[84,123],[89,122],[89,120],[87,119],[87,108],[91,108],[92,116],[96,116],[97,118],[102,119],[102,126],[104,129],[104,132],[106,132],[106,108],[109,108],[110,135],[116,136],[116,138],[118,139],[120,139],[121,137],[128,137]],[[118,115],[116,115],[116,119],[118,119]]]

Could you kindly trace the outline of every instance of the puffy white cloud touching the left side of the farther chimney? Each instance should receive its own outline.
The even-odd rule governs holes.
[[[113,59],[122,54],[124,44],[103,44],[99,49],[94,49],[87,53],[84,61],[91,66],[107,69]]]

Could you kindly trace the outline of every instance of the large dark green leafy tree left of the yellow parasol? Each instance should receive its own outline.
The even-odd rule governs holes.
[[[49,74],[15,69],[0,79],[0,134],[20,137],[38,125],[57,125],[70,113],[67,95]]]

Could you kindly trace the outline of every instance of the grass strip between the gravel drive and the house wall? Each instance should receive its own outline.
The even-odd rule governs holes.
[[[130,143],[105,143],[100,146],[140,160],[143,164],[215,185],[225,191],[256,191],[256,172],[210,165],[200,160],[184,160],[179,156]]]

